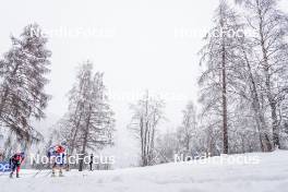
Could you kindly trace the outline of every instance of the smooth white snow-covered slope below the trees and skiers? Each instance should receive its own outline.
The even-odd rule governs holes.
[[[238,157],[239,155],[233,155]],[[70,171],[51,178],[23,170],[22,178],[0,173],[0,192],[287,192],[288,152],[252,153],[257,164],[166,164],[109,171]],[[209,158],[213,160],[219,157]]]

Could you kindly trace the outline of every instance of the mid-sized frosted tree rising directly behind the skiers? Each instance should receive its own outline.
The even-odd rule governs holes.
[[[69,111],[57,125],[69,147],[69,155],[74,152],[82,154],[80,171],[83,170],[83,157],[88,149],[96,151],[112,144],[113,111],[103,76],[100,72],[93,74],[93,63],[89,61],[81,65],[76,82],[69,93]]]

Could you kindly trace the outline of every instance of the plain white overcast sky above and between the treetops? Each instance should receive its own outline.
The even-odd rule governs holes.
[[[117,96],[134,97],[145,89],[170,97],[166,99],[169,122],[165,127],[175,128],[181,122],[187,101],[196,101],[196,53],[217,3],[218,0],[9,0],[0,7],[0,52],[11,46],[11,34],[17,36],[25,25],[37,22],[50,32],[52,65],[47,92],[52,99],[48,118],[65,112],[65,94],[74,82],[75,69],[88,59],[95,71],[105,72],[118,130],[124,130],[130,121],[128,106],[132,100]],[[288,8],[287,1],[286,4]],[[95,34],[75,35],[77,29]]]

